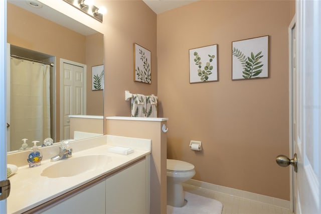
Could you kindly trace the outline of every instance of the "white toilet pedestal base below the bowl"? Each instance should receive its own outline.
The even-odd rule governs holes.
[[[169,180],[169,179],[168,179]],[[185,203],[185,192],[182,183],[167,183],[167,204],[182,207]]]

